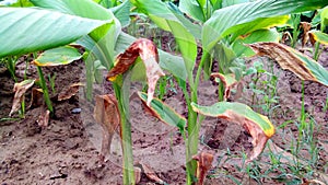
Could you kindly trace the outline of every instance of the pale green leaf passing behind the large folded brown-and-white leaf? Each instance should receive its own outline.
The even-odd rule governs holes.
[[[116,43],[116,47],[115,47],[116,55],[126,50],[136,39],[137,38],[132,37],[131,35],[121,33]],[[167,70],[173,76],[179,79],[185,80],[187,78],[186,67],[181,57],[174,56],[161,49],[159,49],[159,55],[160,55],[160,67],[162,69]]]

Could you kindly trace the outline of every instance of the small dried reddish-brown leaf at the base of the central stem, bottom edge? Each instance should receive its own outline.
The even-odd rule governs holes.
[[[196,177],[198,178],[198,182],[196,185],[203,185],[208,171],[212,166],[213,154],[201,152],[194,155],[192,159],[197,161]]]

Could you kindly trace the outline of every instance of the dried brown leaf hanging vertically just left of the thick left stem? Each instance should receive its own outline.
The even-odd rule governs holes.
[[[94,118],[103,127],[102,160],[110,151],[114,134],[119,132],[120,115],[117,100],[113,94],[97,95],[95,97]]]

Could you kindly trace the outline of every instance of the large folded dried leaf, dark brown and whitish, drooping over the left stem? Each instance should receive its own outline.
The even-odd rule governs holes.
[[[147,105],[150,105],[153,99],[157,80],[165,76],[163,70],[159,66],[159,51],[153,42],[139,38],[126,49],[124,54],[116,57],[114,68],[108,72],[107,80],[115,80],[118,74],[126,72],[136,59],[140,57],[144,62],[148,80],[148,101]]]

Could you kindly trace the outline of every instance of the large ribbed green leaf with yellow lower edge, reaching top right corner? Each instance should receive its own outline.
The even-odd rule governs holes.
[[[207,50],[211,50],[227,35],[234,34],[236,37],[259,28],[282,25],[286,20],[279,15],[316,10],[327,4],[328,1],[323,0],[262,0],[223,8],[216,10],[204,23],[202,45]],[[276,20],[274,16],[279,19]]]

